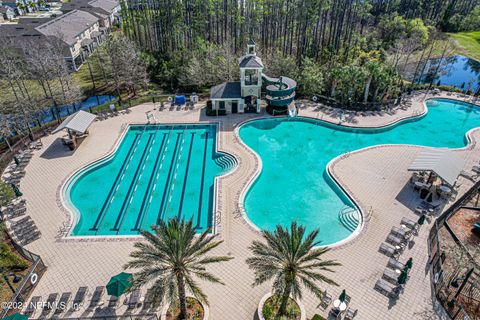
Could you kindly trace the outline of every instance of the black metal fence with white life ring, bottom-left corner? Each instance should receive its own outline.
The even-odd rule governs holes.
[[[30,267],[28,274],[25,276],[22,283],[20,283],[20,286],[18,286],[12,299],[10,299],[10,301],[5,304],[5,308],[0,311],[1,318],[5,318],[7,315],[19,311],[16,306],[24,304],[27,301],[30,293],[38,284],[41,277],[45,273],[45,270],[47,269],[39,255],[28,251],[14,241],[11,241],[11,244],[25,259],[32,262],[32,266]]]

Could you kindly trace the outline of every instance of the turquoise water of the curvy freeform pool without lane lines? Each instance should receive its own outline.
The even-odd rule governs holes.
[[[353,204],[326,174],[330,160],[380,144],[460,148],[467,144],[466,132],[480,126],[480,108],[473,105],[435,99],[427,107],[426,116],[383,129],[348,129],[307,118],[247,122],[240,137],[263,165],[245,196],[248,218],[267,230],[294,220],[319,228],[322,245],[347,238],[352,232],[340,223],[339,212]]]

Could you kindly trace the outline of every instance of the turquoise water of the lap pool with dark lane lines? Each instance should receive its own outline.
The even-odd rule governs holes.
[[[65,195],[75,236],[132,235],[168,217],[213,225],[214,178],[236,165],[215,125],[131,126],[115,153],[76,174]]]

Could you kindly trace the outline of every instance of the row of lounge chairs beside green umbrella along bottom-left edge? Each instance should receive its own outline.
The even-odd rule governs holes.
[[[78,311],[86,306],[86,310],[93,310],[97,307],[106,305],[108,308],[118,307],[120,299],[116,296],[110,296],[108,300],[104,300],[105,287],[98,286],[89,294],[88,287],[80,287],[73,296],[71,292],[64,292],[60,295],[58,293],[51,293],[48,295],[47,300],[42,302],[40,296],[32,297],[30,303],[27,304],[24,313],[26,315],[32,315],[35,310],[39,309],[38,306],[43,308],[42,316],[46,317],[52,311],[54,315],[60,315],[65,311]],[[72,299],[73,296],[73,299]],[[86,301],[88,298],[89,301]],[[134,289],[126,295],[123,304],[127,307],[127,310],[134,310],[142,307],[143,311],[155,311],[153,294],[151,289],[148,289],[146,296],[143,297],[140,289]]]

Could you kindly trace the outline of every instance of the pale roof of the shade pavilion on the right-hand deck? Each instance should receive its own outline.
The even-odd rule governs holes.
[[[464,164],[465,160],[450,150],[426,149],[417,155],[408,171],[434,172],[453,187]]]

